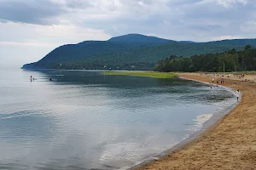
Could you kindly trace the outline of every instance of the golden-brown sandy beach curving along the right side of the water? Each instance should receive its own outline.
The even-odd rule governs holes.
[[[202,82],[211,82],[214,77],[199,73],[178,75]],[[228,115],[178,150],[136,169],[256,169],[256,83],[254,77],[246,77],[250,77],[249,82],[225,76],[221,84],[239,89],[242,94],[241,103]]]

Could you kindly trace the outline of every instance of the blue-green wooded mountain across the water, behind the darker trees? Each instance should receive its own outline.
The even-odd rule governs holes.
[[[84,41],[55,48],[38,62],[22,69],[106,69],[152,70],[155,63],[171,55],[189,57],[195,54],[220,53],[228,49],[256,46],[256,39],[217,42],[177,42],[159,37],[128,34],[108,41]]]

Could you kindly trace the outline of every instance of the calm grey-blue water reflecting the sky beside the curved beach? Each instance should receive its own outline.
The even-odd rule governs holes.
[[[199,82],[96,71],[1,70],[0,97],[0,169],[18,170],[131,167],[236,102]]]

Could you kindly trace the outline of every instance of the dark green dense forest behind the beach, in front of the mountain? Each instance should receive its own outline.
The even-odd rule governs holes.
[[[159,60],[154,71],[256,71],[256,48],[247,45],[241,50],[233,48],[223,53],[193,55],[190,58],[171,55]]]

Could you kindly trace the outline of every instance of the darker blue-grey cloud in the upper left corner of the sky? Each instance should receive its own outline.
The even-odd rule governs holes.
[[[80,0],[0,0],[0,22],[13,21],[37,25],[59,24],[62,14],[73,9],[92,7],[91,1]],[[64,19],[65,20],[65,19]]]

